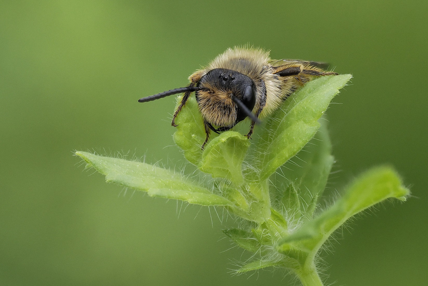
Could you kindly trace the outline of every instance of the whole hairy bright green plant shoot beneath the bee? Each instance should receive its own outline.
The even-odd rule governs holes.
[[[253,140],[233,130],[214,133],[203,150],[204,120],[190,97],[175,119],[174,141],[190,163],[210,175],[214,183],[209,188],[147,163],[75,154],[107,182],[149,196],[223,207],[247,222],[223,230],[253,253],[237,274],[274,266],[296,275],[303,286],[322,286],[318,255],[332,233],[355,214],[389,198],[405,201],[410,194],[394,169],[380,166],[357,176],[328,208],[319,208],[334,163],[321,116],[350,79],[328,75],[310,81],[256,126]],[[284,164],[287,168],[280,168]],[[279,186],[270,180],[276,172],[283,177]]]

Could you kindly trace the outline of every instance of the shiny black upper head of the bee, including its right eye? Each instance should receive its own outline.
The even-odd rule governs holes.
[[[250,110],[253,110],[256,104],[255,84],[251,78],[241,72],[231,69],[211,69],[200,79],[198,86],[203,87],[205,84],[231,91]],[[247,115],[237,107],[236,123],[244,120],[245,117]]]

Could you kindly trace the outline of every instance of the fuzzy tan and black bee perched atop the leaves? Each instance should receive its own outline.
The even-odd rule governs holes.
[[[271,60],[269,52],[259,48],[229,48],[208,66],[189,77],[187,87],[164,91],[139,99],[147,102],[184,93],[172,117],[172,126],[194,91],[205,125],[208,142],[210,131],[226,131],[249,117],[248,138],[259,118],[267,117],[298,87],[312,78],[337,75],[322,69],[324,64],[305,60]]]

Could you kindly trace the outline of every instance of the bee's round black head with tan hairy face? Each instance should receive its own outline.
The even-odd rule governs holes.
[[[254,82],[234,70],[211,69],[197,87],[196,100],[202,116],[219,127],[232,127],[244,120],[256,104]]]

